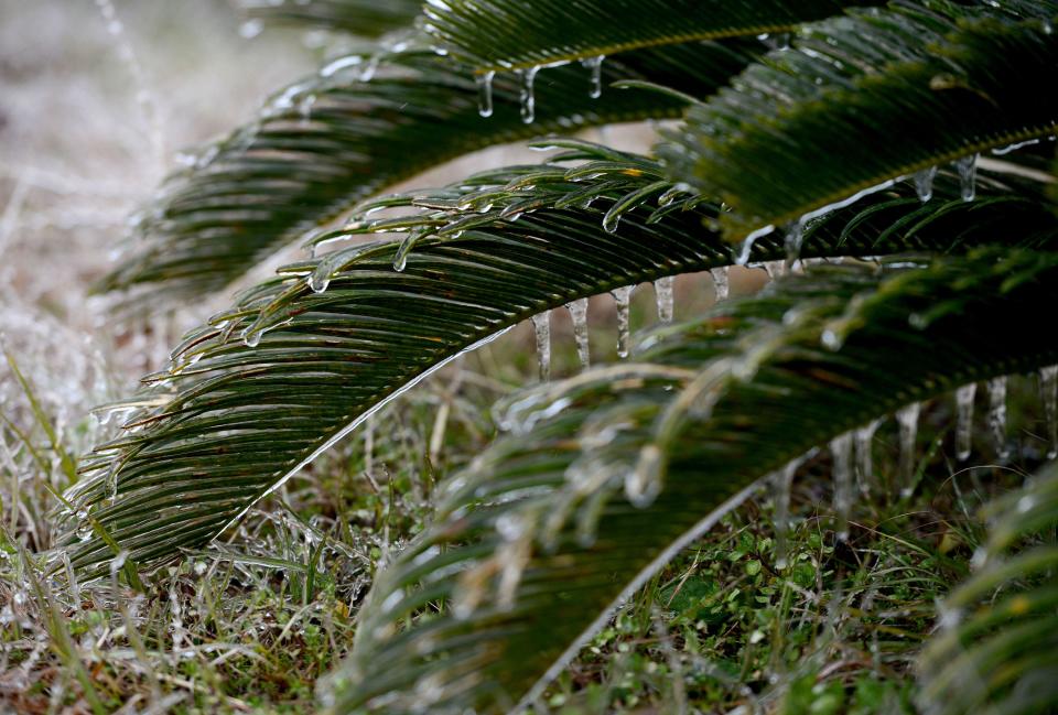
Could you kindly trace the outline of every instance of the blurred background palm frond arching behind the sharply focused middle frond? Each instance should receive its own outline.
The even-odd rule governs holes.
[[[758,52],[751,43],[708,43],[630,53],[607,64],[603,80],[649,80],[703,97]],[[560,67],[538,83],[539,111],[526,123],[517,83],[497,78],[494,85],[488,102],[495,110],[484,118],[469,68],[449,57],[404,50],[337,61],[278,93],[255,123],[207,145],[173,174],[137,218],[130,254],[96,290],[139,289],[129,296],[137,305],[201,296],[435,164],[549,132],[678,117],[685,106],[641,89],[593,99],[583,71]]]

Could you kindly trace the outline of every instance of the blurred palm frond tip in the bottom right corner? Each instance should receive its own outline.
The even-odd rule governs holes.
[[[976,573],[941,607],[919,660],[924,709],[1047,713],[1058,707],[1058,468],[993,502]],[[1004,554],[1004,552],[1012,552]]]

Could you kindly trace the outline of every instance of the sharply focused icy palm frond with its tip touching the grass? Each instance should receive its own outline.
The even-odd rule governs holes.
[[[703,227],[714,206],[695,196],[657,205],[656,162],[569,145],[580,162],[572,169],[486,174],[469,189],[417,199],[433,206],[425,213],[353,229],[433,231],[410,256],[392,240],[354,246],[248,291],[185,338],[170,371],[152,376],[154,387],[130,402],[148,407],[85,463],[71,499],[137,561],[165,559],[207,542],[378,405],[506,327],[618,286],[732,262],[730,247]],[[1013,194],[964,203],[939,191],[924,206],[909,193],[820,221],[803,254],[961,251],[994,241],[998,226],[1012,245],[1058,238],[1049,212]],[[486,196],[493,206],[483,214]],[[754,249],[759,260],[782,256],[768,240]],[[100,540],[68,543],[75,565],[109,557]]]

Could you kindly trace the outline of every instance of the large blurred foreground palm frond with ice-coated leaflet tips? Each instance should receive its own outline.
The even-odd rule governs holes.
[[[756,479],[908,402],[1054,362],[1033,306],[1056,279],[1058,254],[1033,251],[829,267],[650,337],[635,364],[519,396],[515,434],[376,577],[325,700],[526,706]]]

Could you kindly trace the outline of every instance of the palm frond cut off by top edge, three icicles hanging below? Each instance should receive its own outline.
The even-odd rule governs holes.
[[[475,72],[535,69],[617,52],[782,33],[866,1],[436,0],[424,29]],[[649,18],[649,22],[644,22]],[[596,61],[597,62],[597,61]]]

